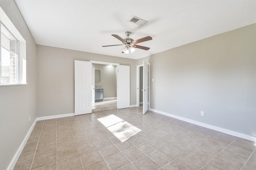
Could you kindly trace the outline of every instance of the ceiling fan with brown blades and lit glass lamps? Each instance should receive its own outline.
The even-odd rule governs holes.
[[[102,47],[111,47],[111,46],[119,46],[119,45],[125,45],[125,47],[122,49],[122,53],[125,54],[129,54],[129,53],[133,53],[135,51],[134,48],[138,48],[138,49],[143,49],[143,50],[149,50],[150,48],[148,47],[144,47],[141,45],[137,45],[138,43],[142,43],[144,41],[149,41],[152,40],[152,37],[148,36],[148,37],[144,37],[141,39],[137,39],[137,40],[133,40],[132,38],[129,38],[130,36],[130,31],[126,31],[126,39],[122,39],[120,36],[112,34],[113,37],[119,39],[120,41],[122,41],[123,44],[118,44],[118,45],[104,45]]]

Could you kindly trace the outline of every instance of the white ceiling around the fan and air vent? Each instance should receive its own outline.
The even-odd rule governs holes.
[[[39,45],[139,59],[256,23],[256,0],[15,0]],[[144,26],[129,22],[147,20]],[[125,55],[117,34],[151,36]]]

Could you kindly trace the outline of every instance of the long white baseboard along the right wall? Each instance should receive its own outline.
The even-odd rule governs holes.
[[[177,115],[173,115],[171,113],[166,113],[164,111],[159,111],[159,110],[156,110],[156,109],[149,109],[150,111],[154,111],[156,113],[160,113],[162,115],[166,115],[166,116],[169,116],[169,117],[173,117],[173,118],[176,118],[176,119],[179,119],[179,120],[182,120],[182,121],[186,121],[186,122],[189,122],[189,123],[193,123],[195,125],[199,125],[199,126],[202,126],[202,127],[206,127],[206,128],[209,128],[209,129],[212,129],[212,130],[215,130],[215,131],[219,131],[219,132],[222,132],[222,133],[226,133],[228,135],[232,135],[232,136],[236,136],[236,137],[240,137],[240,138],[243,138],[243,139],[247,139],[247,140],[250,140],[250,141],[254,141],[256,142],[256,137],[254,136],[250,136],[250,135],[246,135],[244,133],[240,133],[240,132],[236,132],[236,131],[231,131],[231,130],[228,130],[228,129],[224,129],[222,127],[217,127],[217,126],[214,126],[214,125],[209,125],[209,124],[206,124],[206,123],[202,123],[202,122],[199,122],[199,121],[194,121],[194,120],[191,120],[191,119],[187,119],[185,117],[181,117],[181,116],[177,116]]]

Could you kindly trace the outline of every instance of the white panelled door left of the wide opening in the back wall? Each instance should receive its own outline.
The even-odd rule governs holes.
[[[75,60],[75,115],[92,113],[92,63]]]

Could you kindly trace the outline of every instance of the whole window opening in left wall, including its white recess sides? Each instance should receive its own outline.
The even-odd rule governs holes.
[[[26,84],[26,41],[0,7],[0,86]]]

